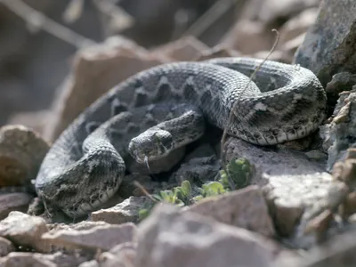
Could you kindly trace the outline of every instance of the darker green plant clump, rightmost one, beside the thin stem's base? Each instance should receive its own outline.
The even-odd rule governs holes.
[[[232,159],[226,166],[225,170],[220,171],[221,179],[219,182],[223,184],[226,190],[237,190],[246,187],[253,174],[253,166],[247,158]]]

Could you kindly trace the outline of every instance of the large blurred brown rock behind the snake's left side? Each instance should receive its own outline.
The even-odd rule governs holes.
[[[53,123],[45,130],[47,140],[59,134],[103,93],[135,73],[164,61],[122,37],[79,51],[72,70],[53,105]],[[123,68],[125,66],[125,68]]]

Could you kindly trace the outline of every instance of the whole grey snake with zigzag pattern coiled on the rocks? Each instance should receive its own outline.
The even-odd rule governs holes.
[[[129,158],[145,164],[174,155],[207,124],[252,145],[292,141],[318,129],[326,102],[318,77],[295,64],[230,57],[144,69],[60,134],[39,167],[36,192],[69,217],[90,214],[117,192]]]

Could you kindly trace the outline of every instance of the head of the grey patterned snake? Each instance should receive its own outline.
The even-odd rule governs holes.
[[[172,150],[174,150],[172,134],[159,128],[143,132],[134,137],[128,145],[130,155],[138,163],[163,158]]]

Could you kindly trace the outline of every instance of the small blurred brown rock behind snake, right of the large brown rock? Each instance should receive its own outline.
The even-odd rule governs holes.
[[[194,36],[186,36],[162,46],[158,46],[151,53],[164,56],[170,61],[192,61],[203,55],[209,47]]]

